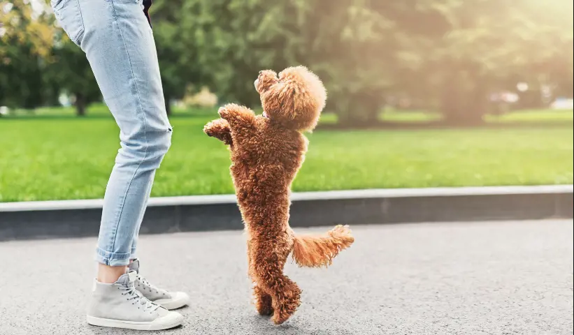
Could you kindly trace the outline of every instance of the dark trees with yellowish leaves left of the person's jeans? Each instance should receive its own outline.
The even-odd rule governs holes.
[[[4,98],[15,107],[57,103],[60,91],[73,95],[79,116],[100,98],[85,54],[55,26],[47,1],[2,1],[0,80]],[[2,79],[3,78],[3,79]]]

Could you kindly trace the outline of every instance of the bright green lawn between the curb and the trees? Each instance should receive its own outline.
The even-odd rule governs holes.
[[[229,153],[173,118],[154,196],[232,193]],[[0,119],[0,201],[101,198],[119,147],[109,118]],[[317,131],[294,191],[573,183],[573,129]]]

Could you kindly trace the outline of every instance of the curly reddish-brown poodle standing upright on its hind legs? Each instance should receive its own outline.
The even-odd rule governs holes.
[[[303,66],[279,75],[264,70],[255,89],[264,114],[225,105],[219,110],[221,119],[203,131],[229,145],[255,307],[281,324],[301,304],[299,286],[283,274],[289,253],[299,266],[327,267],[354,238],[343,225],[322,236],[297,236],[289,227],[291,184],[307,151],[303,132],[315,128],[327,99],[321,80]]]

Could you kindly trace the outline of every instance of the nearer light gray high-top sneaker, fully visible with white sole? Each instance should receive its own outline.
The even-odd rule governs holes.
[[[136,276],[136,271],[129,271],[113,284],[94,281],[87,323],[136,330],[162,330],[181,325],[180,313],[168,311],[136,290]]]

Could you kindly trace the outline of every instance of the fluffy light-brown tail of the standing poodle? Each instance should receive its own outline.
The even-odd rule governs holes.
[[[294,236],[293,259],[300,267],[327,267],[354,242],[347,225],[338,225],[322,236]]]

